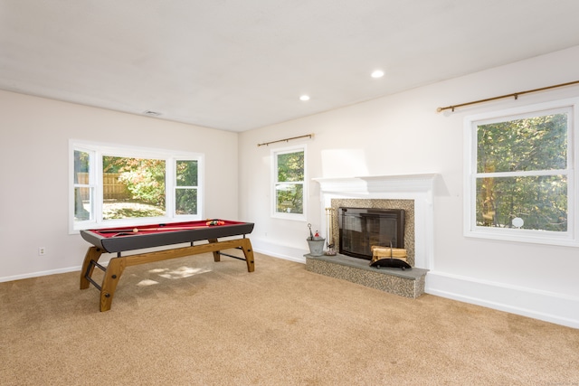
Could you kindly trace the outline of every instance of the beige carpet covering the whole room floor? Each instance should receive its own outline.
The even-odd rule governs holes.
[[[236,251],[235,251],[236,252]],[[256,254],[0,283],[2,385],[579,385],[579,330]]]

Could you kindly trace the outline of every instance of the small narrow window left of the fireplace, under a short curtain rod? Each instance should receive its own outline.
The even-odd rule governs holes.
[[[272,215],[305,221],[306,147],[272,151]]]

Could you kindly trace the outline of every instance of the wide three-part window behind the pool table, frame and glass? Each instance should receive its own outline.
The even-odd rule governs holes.
[[[203,219],[203,155],[71,140],[71,231]]]

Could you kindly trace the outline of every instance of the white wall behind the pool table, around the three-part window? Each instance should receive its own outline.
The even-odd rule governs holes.
[[[0,281],[81,267],[90,244],[68,231],[70,138],[204,153],[205,216],[240,220],[236,133],[1,90],[0,111]]]

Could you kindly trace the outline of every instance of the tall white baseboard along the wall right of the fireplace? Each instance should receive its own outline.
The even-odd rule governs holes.
[[[440,271],[428,272],[425,292],[579,329],[579,297]]]

